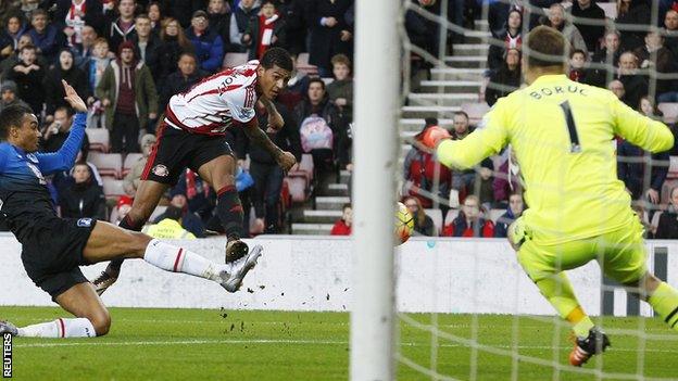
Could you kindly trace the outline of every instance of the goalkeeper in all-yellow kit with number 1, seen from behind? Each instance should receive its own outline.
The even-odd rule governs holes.
[[[529,208],[508,229],[518,262],[577,336],[569,355],[581,366],[610,341],[583,312],[564,270],[598,259],[604,274],[629,287],[678,330],[678,292],[648,271],[643,227],[617,179],[615,136],[652,152],[670,149],[662,123],[642,116],[610,91],[572,81],[566,41],[540,26],[527,38],[528,87],[500,99],[463,140],[437,144],[440,162],[470,168],[511,144],[520,164]]]

